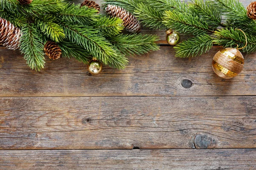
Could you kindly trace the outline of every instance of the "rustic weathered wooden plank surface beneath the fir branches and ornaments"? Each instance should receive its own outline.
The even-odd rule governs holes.
[[[35,72],[0,48],[0,170],[256,169],[256,54],[224,80],[220,47],[180,59],[164,31],[143,32],[160,51],[95,77],[75,59]]]

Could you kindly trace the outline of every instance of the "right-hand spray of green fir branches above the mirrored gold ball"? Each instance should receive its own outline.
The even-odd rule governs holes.
[[[247,16],[239,0],[105,0],[132,12],[144,26],[154,29],[175,29],[194,37],[176,45],[176,57],[195,57],[212,45],[239,48],[256,52],[256,21]],[[222,19],[224,23],[222,23]]]

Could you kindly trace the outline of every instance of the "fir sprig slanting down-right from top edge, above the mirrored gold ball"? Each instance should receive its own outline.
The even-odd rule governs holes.
[[[198,13],[208,25],[213,26],[214,28],[217,28],[218,26],[225,27],[224,24],[221,23],[221,14],[209,0],[192,0],[189,2],[189,7],[191,10]]]

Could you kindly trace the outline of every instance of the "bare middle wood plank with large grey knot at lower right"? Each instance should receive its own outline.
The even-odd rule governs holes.
[[[0,149],[256,147],[256,98],[0,98]]]

